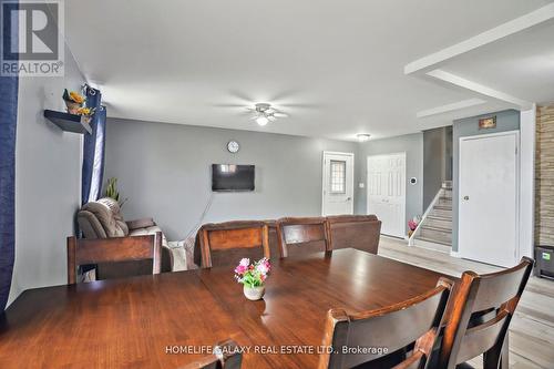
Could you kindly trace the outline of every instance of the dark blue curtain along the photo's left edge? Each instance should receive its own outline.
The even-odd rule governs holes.
[[[4,23],[2,27],[2,34],[6,37],[9,24]],[[12,30],[17,29],[16,24]],[[10,41],[18,42],[17,34],[12,34]],[[16,247],[14,198],[18,90],[18,76],[0,76],[0,311],[6,308],[10,295]]]

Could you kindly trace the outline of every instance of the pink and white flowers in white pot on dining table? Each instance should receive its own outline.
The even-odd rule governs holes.
[[[235,268],[235,279],[243,284],[243,291],[247,299],[259,300],[264,297],[264,283],[269,270],[271,270],[271,265],[265,257],[252,264],[249,258],[240,259]]]

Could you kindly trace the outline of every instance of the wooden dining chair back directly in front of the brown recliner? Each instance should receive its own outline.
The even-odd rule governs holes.
[[[76,283],[76,268],[86,264],[152,260],[152,274],[162,265],[162,233],[155,235],[84,239],[68,237],[68,284]],[[129,266],[129,263],[125,263]],[[127,270],[132,270],[127,268]],[[134,274],[133,274],[134,275]]]

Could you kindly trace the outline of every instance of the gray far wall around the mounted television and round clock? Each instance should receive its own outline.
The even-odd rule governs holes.
[[[237,154],[227,152],[232,139],[240,144]],[[119,178],[127,219],[152,216],[170,239],[182,239],[212,196],[211,164],[256,165],[256,189],[215,193],[203,222],[318,216],[322,151],[357,148],[352,142],[109,119],[104,177]]]

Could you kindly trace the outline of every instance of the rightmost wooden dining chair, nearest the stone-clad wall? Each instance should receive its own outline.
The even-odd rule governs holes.
[[[439,368],[471,368],[465,361],[483,353],[483,368],[507,368],[507,328],[525,289],[534,260],[497,273],[462,274],[449,307]]]

